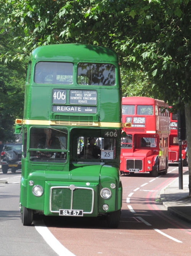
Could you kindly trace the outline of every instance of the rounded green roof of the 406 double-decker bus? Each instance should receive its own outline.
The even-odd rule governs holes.
[[[109,48],[96,45],[58,44],[45,45],[32,51],[29,59],[65,61],[104,61],[117,62],[118,56]]]

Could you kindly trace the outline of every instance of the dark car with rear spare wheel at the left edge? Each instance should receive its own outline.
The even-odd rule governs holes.
[[[11,172],[21,169],[22,144],[5,144],[1,152],[2,172],[7,173],[11,168]]]

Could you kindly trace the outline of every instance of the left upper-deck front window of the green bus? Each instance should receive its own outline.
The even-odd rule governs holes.
[[[35,66],[34,81],[37,84],[72,84],[73,63],[39,61]]]

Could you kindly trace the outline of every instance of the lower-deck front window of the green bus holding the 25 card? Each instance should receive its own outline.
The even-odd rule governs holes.
[[[116,139],[102,137],[78,137],[79,159],[115,159]]]

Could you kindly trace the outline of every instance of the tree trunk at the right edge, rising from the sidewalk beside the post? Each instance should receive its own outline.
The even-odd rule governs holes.
[[[188,146],[189,197],[191,197],[191,105],[185,104],[186,137]]]

